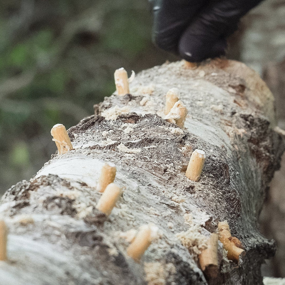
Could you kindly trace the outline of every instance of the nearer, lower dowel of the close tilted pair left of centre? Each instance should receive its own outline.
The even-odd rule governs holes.
[[[110,215],[121,194],[122,189],[118,187],[115,183],[110,183],[109,185],[107,185],[105,191],[100,197],[96,208],[101,212],[105,213],[107,216]]]

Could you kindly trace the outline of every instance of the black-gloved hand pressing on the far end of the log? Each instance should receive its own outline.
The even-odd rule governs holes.
[[[154,43],[199,62],[225,54],[239,19],[262,0],[150,0]]]

